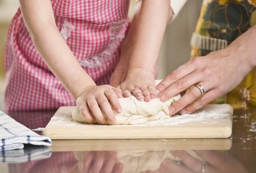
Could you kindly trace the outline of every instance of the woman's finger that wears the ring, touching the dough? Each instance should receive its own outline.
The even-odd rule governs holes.
[[[204,86],[205,86],[204,91],[206,92],[208,90],[208,86],[207,84],[205,84]],[[192,88],[169,108],[169,114],[174,115],[175,113],[177,113],[182,108],[189,105],[191,102],[193,102],[195,99],[197,99],[200,96],[201,96],[201,91],[197,87]]]

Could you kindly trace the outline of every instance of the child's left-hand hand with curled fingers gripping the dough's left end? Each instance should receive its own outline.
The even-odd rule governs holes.
[[[110,85],[91,85],[85,88],[83,94],[77,98],[76,104],[88,122],[94,122],[96,119],[102,124],[106,122],[106,118],[102,115],[99,108],[100,106],[110,122],[113,123],[116,121],[116,118],[110,102],[116,113],[121,113],[122,108],[118,100],[118,97],[122,96],[121,93],[122,91],[119,88],[113,88]]]

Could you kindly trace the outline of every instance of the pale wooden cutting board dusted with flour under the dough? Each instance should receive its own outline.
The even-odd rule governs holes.
[[[232,133],[233,109],[230,105],[206,105],[191,115],[142,125],[89,125],[75,122],[75,107],[61,107],[44,129],[51,139],[188,139],[228,138]]]

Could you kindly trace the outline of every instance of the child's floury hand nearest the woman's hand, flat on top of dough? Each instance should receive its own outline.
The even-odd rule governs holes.
[[[141,69],[129,69],[126,79],[121,83],[120,89],[123,96],[128,97],[133,94],[139,101],[149,102],[156,97],[155,77],[150,71]]]

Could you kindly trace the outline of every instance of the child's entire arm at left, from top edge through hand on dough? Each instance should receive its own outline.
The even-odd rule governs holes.
[[[108,93],[113,95],[113,92],[109,90],[109,87],[96,87],[93,79],[79,65],[79,62],[58,31],[51,1],[20,0],[20,9],[35,48],[37,48],[52,73],[61,81],[70,94],[75,99],[85,91],[91,91],[88,93],[94,94],[90,98],[85,98],[84,95],[81,96],[83,99],[79,101],[81,105],[78,106],[84,110],[83,112],[85,113],[83,115],[89,119],[89,122],[92,121],[93,117],[90,117],[89,113],[91,109],[94,115],[99,115],[99,119],[102,120],[101,122],[104,122],[104,117],[99,112],[98,102],[99,105],[101,103],[104,104],[102,105],[104,107],[102,109],[105,110],[107,116],[110,116],[114,120],[113,112],[110,111],[112,110],[111,106],[106,102],[106,100],[108,101],[108,96],[99,96]],[[101,100],[98,100],[95,97],[96,95]],[[88,100],[90,103],[87,104]],[[116,109],[120,108],[117,96],[112,96],[110,100],[113,101],[112,104],[114,103],[113,105]],[[96,118],[98,119],[98,117]]]

